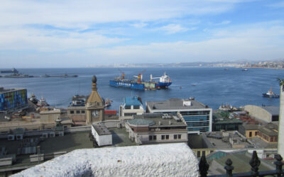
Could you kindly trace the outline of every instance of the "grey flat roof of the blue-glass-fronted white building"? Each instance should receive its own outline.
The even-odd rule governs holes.
[[[190,103],[190,105],[185,103]],[[146,104],[149,108],[151,108],[151,110],[189,110],[209,108],[207,105],[198,101],[180,98],[170,98],[167,101],[148,101]]]

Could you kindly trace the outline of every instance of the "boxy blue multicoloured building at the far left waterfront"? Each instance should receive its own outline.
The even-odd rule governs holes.
[[[26,89],[4,89],[0,87],[0,112],[13,113],[28,108]]]

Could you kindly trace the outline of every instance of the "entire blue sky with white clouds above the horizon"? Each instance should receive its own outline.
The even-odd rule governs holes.
[[[1,1],[0,68],[271,59],[284,1]]]

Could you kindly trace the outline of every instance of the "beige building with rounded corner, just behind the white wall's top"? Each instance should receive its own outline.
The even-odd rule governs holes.
[[[187,142],[187,125],[176,115],[145,113],[125,123],[129,138],[137,144]]]

